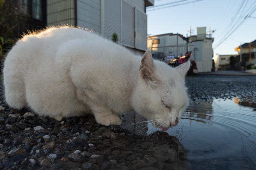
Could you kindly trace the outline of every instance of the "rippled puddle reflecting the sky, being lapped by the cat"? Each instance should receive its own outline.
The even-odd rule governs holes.
[[[127,114],[121,126],[159,146],[175,136],[186,152],[181,159],[186,169],[256,169],[256,104],[250,100],[191,104],[179,124],[166,131],[136,113]]]

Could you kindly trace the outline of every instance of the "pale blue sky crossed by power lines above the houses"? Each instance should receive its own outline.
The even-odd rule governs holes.
[[[148,34],[178,32],[190,36],[190,25],[194,30],[191,35],[197,34],[197,27],[206,27],[206,31],[211,28],[215,30],[212,34],[214,56],[216,53],[237,54],[237,46],[256,39],[256,0],[155,0],[154,6],[177,1],[180,2],[147,7]],[[197,2],[163,8],[193,1]],[[158,10],[150,11],[153,9]],[[244,19],[247,14],[251,15]],[[222,42],[223,39],[226,40]]]

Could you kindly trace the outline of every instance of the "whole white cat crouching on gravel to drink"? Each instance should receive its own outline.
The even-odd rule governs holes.
[[[6,102],[40,116],[93,113],[103,125],[121,124],[137,111],[155,125],[175,126],[188,105],[184,78],[190,62],[176,68],[143,58],[82,29],[49,28],[24,36],[4,66]]]

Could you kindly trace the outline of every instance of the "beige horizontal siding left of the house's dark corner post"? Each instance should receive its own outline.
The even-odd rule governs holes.
[[[73,0],[47,0],[47,26],[75,25]]]

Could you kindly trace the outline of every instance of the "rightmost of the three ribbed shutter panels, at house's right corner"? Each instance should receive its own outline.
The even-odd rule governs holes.
[[[137,9],[135,12],[135,48],[147,50],[147,15]]]

